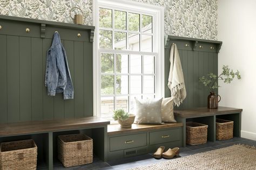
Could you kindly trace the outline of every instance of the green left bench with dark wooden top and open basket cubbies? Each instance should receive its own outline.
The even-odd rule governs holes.
[[[38,147],[37,168],[53,169],[57,160],[57,137],[83,133],[93,139],[93,153],[107,160],[107,124],[97,117],[0,124],[0,143],[33,139]]]

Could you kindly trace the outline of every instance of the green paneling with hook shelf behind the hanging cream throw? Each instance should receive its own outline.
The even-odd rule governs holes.
[[[207,107],[207,96],[210,90],[199,82],[199,77],[209,73],[218,74],[218,51],[222,42],[167,36],[165,45],[165,97],[171,96],[167,83],[170,70],[170,51],[173,43],[177,44],[178,47],[187,93],[183,103],[176,109]],[[218,94],[218,89],[215,92]]]

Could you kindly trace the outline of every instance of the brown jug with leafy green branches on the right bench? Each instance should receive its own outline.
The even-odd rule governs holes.
[[[218,96],[215,95],[214,89],[218,89],[218,80],[224,81],[224,83],[231,83],[234,77],[237,76],[237,79],[241,79],[241,75],[238,72],[233,72],[232,69],[228,68],[228,66],[223,66],[222,72],[220,75],[216,75],[213,73],[207,74],[208,77],[200,77],[199,82],[202,82],[205,86],[210,89],[210,95],[208,95],[207,107],[208,109],[217,109],[218,108]],[[220,97],[220,96],[219,96]],[[220,98],[221,99],[221,98]]]

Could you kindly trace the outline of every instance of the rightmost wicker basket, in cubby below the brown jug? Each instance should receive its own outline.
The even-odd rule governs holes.
[[[233,138],[233,121],[216,119],[216,139],[226,140]]]

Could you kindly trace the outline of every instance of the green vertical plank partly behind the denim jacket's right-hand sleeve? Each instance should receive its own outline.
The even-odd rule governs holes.
[[[74,69],[74,42],[65,40],[64,41],[64,48],[66,50],[67,59],[69,62],[69,70],[72,82],[74,83],[74,75],[75,75],[75,69]],[[76,98],[76,96],[75,96]],[[65,109],[64,109],[64,117],[65,118],[74,118],[75,117],[75,106],[74,106],[74,100],[65,100]]]

